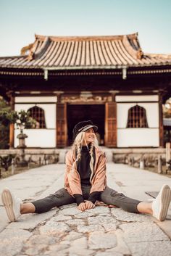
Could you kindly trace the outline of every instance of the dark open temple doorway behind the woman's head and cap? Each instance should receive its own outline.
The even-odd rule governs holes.
[[[104,145],[104,104],[68,104],[67,105],[67,132],[68,144],[72,144],[72,130],[76,123],[83,120],[92,120],[98,126],[97,138],[99,144]]]

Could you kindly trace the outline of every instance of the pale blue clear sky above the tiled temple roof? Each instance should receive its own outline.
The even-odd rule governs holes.
[[[0,0],[0,56],[44,36],[137,33],[145,53],[171,54],[170,0]]]

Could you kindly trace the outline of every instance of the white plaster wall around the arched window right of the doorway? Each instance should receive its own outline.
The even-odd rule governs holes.
[[[149,128],[126,128],[128,110],[135,103],[117,103],[117,146],[159,146],[159,104],[138,103],[146,109]]]

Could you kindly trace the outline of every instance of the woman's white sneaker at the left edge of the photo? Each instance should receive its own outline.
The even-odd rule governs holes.
[[[7,212],[9,220],[16,221],[20,217],[20,204],[22,200],[12,194],[9,189],[4,189],[1,194],[1,200]]]

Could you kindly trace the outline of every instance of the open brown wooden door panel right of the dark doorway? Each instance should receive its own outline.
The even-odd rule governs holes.
[[[117,103],[107,102],[105,107],[105,146],[117,147]]]

